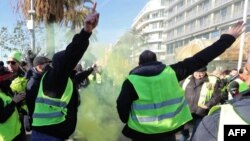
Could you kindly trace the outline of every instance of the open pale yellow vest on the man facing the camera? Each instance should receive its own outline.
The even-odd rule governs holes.
[[[201,91],[200,91],[200,97],[198,100],[198,106],[205,105],[206,102],[208,102],[211,99],[213,92],[214,92],[214,86],[215,86],[217,80],[218,80],[218,78],[215,76],[208,76],[208,82],[204,82],[202,84]],[[185,81],[182,85],[183,90],[186,89],[189,82],[190,82],[190,77],[185,79]]]

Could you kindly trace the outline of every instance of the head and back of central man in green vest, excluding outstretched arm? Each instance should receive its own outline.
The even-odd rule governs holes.
[[[121,91],[121,95],[129,92],[137,99],[132,103],[128,119],[123,119],[119,109],[124,99],[120,96],[117,100],[121,120],[128,120],[123,133],[133,140],[174,141],[175,130],[191,120],[183,91],[179,85],[171,85],[178,84],[175,73],[171,67],[158,62],[155,53],[146,50],[139,60],[139,66],[130,72],[123,84],[127,89]],[[137,135],[131,135],[131,130]]]

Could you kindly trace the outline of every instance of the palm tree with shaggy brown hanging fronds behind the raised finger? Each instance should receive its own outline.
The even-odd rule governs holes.
[[[88,10],[84,10],[83,3],[92,0],[35,0],[35,20],[44,22],[46,28],[46,47],[49,57],[55,52],[54,23],[64,21],[72,29],[84,24]],[[17,9],[21,8],[25,18],[29,18],[31,0],[19,0]],[[82,7],[82,8],[80,8]]]

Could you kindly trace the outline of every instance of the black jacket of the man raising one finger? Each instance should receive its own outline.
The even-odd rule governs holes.
[[[43,91],[45,95],[60,98],[65,90],[68,78],[74,79],[71,74],[89,44],[90,33],[82,30],[76,34],[66,50],[57,52],[52,58],[52,68],[49,69],[44,79]],[[78,90],[75,83],[72,97],[67,105],[68,113],[66,120],[56,125],[33,126],[33,130],[49,134],[61,139],[67,139],[74,131],[77,122]]]

